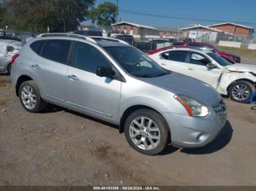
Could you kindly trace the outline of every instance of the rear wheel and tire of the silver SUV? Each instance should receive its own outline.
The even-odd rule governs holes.
[[[26,111],[41,112],[47,106],[42,100],[36,83],[32,80],[23,82],[19,88],[20,103]]]

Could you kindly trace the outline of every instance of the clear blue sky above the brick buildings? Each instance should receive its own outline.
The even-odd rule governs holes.
[[[116,0],[98,0],[98,4],[104,1],[116,3]],[[119,9],[118,20],[121,17],[122,21],[155,27],[177,28],[179,24],[182,28],[196,23],[236,21],[256,28],[256,0],[119,0]]]

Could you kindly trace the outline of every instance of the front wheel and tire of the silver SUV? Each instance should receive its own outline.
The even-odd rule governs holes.
[[[149,128],[150,120],[152,122]],[[165,149],[169,127],[159,113],[150,109],[138,109],[127,117],[124,134],[133,149],[145,155],[157,155]]]

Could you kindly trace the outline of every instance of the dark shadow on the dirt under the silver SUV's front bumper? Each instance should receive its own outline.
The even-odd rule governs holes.
[[[233,128],[229,121],[226,122],[225,126],[222,128],[221,133],[214,141],[207,144],[205,147],[195,148],[195,149],[181,149],[181,152],[187,153],[189,155],[207,155],[213,152],[217,152],[224,148],[232,139]]]

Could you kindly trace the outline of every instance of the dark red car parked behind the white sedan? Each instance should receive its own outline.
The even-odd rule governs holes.
[[[222,58],[225,58],[230,63],[241,63],[241,58],[238,55],[233,55],[228,52],[223,52],[218,47],[214,47],[214,45],[212,44],[203,43],[203,42],[178,42],[178,43],[175,43],[174,45],[186,46],[186,47],[197,47],[197,48],[200,48],[201,50],[212,50],[215,53],[217,53],[217,55],[220,55]]]

